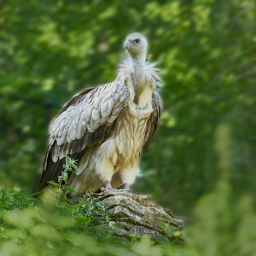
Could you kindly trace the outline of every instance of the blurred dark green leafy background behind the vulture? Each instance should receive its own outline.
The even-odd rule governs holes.
[[[115,78],[137,31],[160,67],[165,110],[133,189],[187,216],[225,170],[233,198],[255,198],[253,0],[9,0],[0,27],[0,185],[31,190],[49,120],[77,91]]]

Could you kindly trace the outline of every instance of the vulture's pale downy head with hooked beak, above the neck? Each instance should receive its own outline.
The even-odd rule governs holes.
[[[143,34],[134,32],[125,38],[124,48],[133,58],[146,57],[148,40],[143,36]]]

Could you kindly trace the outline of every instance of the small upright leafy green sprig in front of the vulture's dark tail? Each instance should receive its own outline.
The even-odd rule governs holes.
[[[67,183],[70,172],[78,173],[79,168],[77,166],[77,160],[74,160],[67,155],[65,158],[65,164],[62,167],[61,175],[58,176],[58,183],[53,180],[49,181],[48,183],[57,188],[58,192],[62,195],[65,195],[63,193],[64,190],[74,192],[72,187],[65,185]]]

